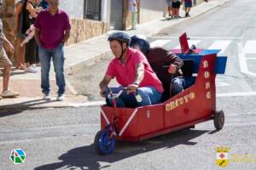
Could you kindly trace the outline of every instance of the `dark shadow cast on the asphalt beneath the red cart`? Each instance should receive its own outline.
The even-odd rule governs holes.
[[[116,149],[113,154],[107,156],[98,156],[94,150],[94,144],[84,147],[68,150],[58,159],[61,162],[55,162],[47,165],[36,167],[35,170],[53,170],[58,168],[63,169],[102,169],[111,167],[111,163],[120,161],[131,156],[137,156],[149,152],[151,150],[168,150],[179,144],[195,145],[196,142],[190,141],[198,136],[201,136],[208,131],[203,130],[182,130],[175,133],[161,135],[154,139],[148,139],[137,143],[117,142]],[[101,167],[100,161],[109,163]]]

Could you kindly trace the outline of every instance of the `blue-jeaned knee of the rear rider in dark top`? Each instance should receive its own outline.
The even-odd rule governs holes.
[[[186,83],[185,83],[185,79],[183,77],[175,77],[172,79],[171,82],[171,89],[170,89],[170,93],[172,93],[170,95],[170,97],[175,96],[176,94],[183,92],[184,88],[186,87]]]

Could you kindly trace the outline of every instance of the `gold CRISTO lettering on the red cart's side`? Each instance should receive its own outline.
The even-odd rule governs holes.
[[[183,97],[175,99],[174,101],[171,101],[170,103],[166,104],[166,111],[172,111],[180,105],[189,103],[189,101],[191,101],[192,99],[195,99],[195,92],[186,94]]]

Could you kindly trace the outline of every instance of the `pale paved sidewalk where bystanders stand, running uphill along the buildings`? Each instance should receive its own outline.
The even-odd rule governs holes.
[[[137,30],[125,31],[130,35],[143,34],[146,37],[157,34],[158,32],[171,28],[185,20],[191,20],[200,14],[204,14],[212,8],[217,8],[231,0],[211,0],[208,3],[191,9],[189,18],[181,18],[178,20],[154,20],[145,24],[137,25]],[[181,16],[184,16],[183,9],[180,10]],[[94,37],[90,40],[79,42],[77,44],[66,47],[65,50],[65,71],[66,74],[73,74],[76,69],[84,68],[88,65],[95,64],[98,60],[112,57],[109,44],[107,42],[108,35],[113,32],[109,31],[100,37]],[[40,69],[40,68],[39,68]],[[67,98],[65,101],[56,102],[55,93],[57,87],[55,85],[55,72],[53,65],[50,71],[51,95],[54,96],[51,102],[42,100],[40,88],[40,71],[38,73],[24,73],[24,71],[13,71],[10,78],[9,88],[20,93],[20,97],[15,99],[1,99],[1,108],[45,108],[45,107],[71,107],[88,105],[88,99],[85,96],[77,95],[75,89],[67,82]],[[2,89],[2,77],[0,78],[0,89]]]

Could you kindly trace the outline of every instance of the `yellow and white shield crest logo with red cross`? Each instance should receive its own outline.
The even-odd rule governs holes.
[[[229,150],[228,147],[217,147],[216,150],[216,163],[220,167],[226,167],[229,164]]]

